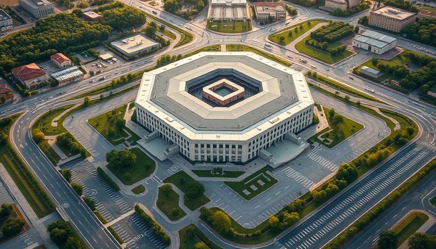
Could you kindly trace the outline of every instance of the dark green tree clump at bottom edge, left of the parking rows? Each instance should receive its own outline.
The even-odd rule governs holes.
[[[65,245],[65,249],[86,249],[87,246],[74,231],[70,223],[58,220],[47,226],[50,237],[56,244]]]

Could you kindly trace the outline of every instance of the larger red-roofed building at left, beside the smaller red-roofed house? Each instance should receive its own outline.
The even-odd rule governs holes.
[[[38,82],[45,81],[47,75],[35,63],[12,69],[12,74],[28,89],[36,88]]]

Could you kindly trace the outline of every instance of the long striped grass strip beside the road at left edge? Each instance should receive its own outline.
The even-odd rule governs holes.
[[[21,114],[12,115],[11,118],[13,122],[15,122],[20,115]],[[6,134],[9,134],[12,124],[0,127],[0,129]],[[9,141],[6,145],[0,146],[0,162],[39,218],[55,211],[55,204],[52,199],[45,193],[41,185],[39,185],[39,182],[19,158]]]

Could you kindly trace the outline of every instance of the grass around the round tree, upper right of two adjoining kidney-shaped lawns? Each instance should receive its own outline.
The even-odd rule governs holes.
[[[184,180],[183,184],[181,184],[181,179]],[[182,190],[183,193],[186,193],[186,191],[188,191],[188,184],[190,181],[195,180],[184,171],[179,171],[176,174],[164,179],[164,183],[174,184],[176,187]],[[204,204],[208,203],[209,201],[210,199],[202,194],[200,197],[197,197],[195,199],[185,199],[183,203],[187,208],[194,211],[203,206]]]

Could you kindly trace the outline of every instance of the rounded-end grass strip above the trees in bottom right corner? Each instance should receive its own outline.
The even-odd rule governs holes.
[[[398,235],[397,247],[400,247],[410,235],[416,232],[428,220],[428,215],[421,212],[412,212],[393,230]]]

